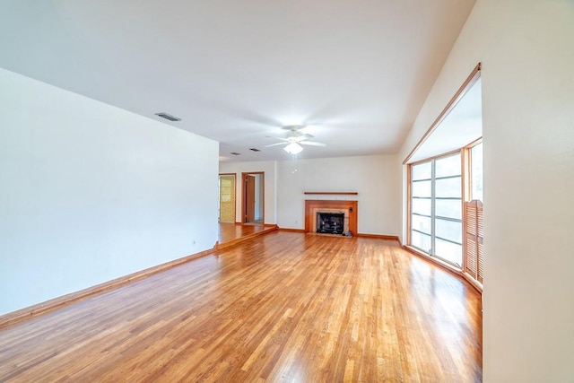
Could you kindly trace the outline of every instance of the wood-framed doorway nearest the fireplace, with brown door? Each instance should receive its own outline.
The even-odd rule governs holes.
[[[241,173],[241,222],[265,223],[265,172]]]

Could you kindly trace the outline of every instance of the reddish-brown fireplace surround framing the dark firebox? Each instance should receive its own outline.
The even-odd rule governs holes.
[[[352,209],[352,211],[351,211]],[[317,211],[321,213],[345,213],[345,231],[357,235],[357,201],[305,200],[305,232],[317,229]],[[348,222],[348,223],[347,223]]]

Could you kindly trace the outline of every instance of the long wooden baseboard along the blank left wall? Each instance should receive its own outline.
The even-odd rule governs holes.
[[[192,254],[187,257],[174,259],[173,261],[167,262],[165,264],[155,265],[132,274],[120,276],[119,278],[113,279],[108,282],[96,284],[95,286],[88,287],[87,289],[80,290],[79,292],[71,292],[69,294],[62,295],[61,297],[54,298],[52,300],[46,300],[44,302],[32,305],[24,309],[18,309],[16,311],[9,312],[7,314],[0,316],[0,329],[3,329],[7,326],[13,326],[24,320],[35,318],[42,314],[47,314],[48,312],[54,311],[56,309],[61,309],[72,303],[78,302],[80,300],[85,300],[94,295],[98,295],[102,292],[109,292],[110,290],[117,289],[118,287],[123,286],[127,283],[138,281],[152,274],[157,274],[164,270],[168,270],[172,267],[175,267],[177,265],[185,264],[196,258],[212,254],[213,252],[215,252],[214,247],[208,248],[207,250],[200,251],[199,253]]]

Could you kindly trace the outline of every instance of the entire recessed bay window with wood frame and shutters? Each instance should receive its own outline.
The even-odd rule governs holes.
[[[483,288],[483,108],[476,65],[403,161],[407,239]]]

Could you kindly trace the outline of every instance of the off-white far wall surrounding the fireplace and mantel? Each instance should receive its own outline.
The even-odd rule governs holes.
[[[278,161],[277,223],[281,228],[304,229],[305,199],[357,200],[360,233],[398,235],[399,174],[395,155]],[[359,195],[306,196],[305,191]]]

